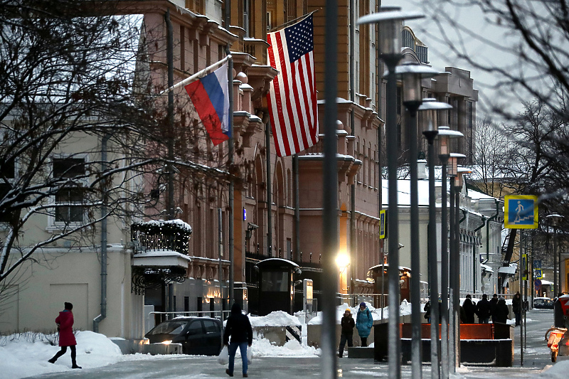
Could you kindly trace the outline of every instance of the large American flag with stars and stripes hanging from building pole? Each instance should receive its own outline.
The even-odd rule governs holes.
[[[318,142],[312,14],[269,33],[269,63],[279,70],[267,95],[278,156],[289,156]]]

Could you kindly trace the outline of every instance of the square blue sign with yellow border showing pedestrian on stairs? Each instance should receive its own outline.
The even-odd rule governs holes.
[[[504,226],[510,229],[538,228],[538,197],[510,195],[504,198]]]

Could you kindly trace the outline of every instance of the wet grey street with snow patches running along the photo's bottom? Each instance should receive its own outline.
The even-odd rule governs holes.
[[[515,361],[512,368],[494,368],[479,366],[462,366],[455,378],[487,379],[489,377],[506,378],[536,378],[551,365],[549,349],[543,336],[553,324],[552,310],[533,310],[528,312],[527,348],[523,351],[523,366],[519,350],[519,331],[517,327],[515,343]],[[285,358],[262,357],[254,358],[249,368],[250,378],[319,378],[319,358]],[[240,378],[240,360],[235,363],[235,377]],[[89,379],[146,379],[146,378],[228,378],[225,366],[216,362],[216,357],[197,356],[162,356],[150,360],[124,361],[101,368],[65,372],[65,378]],[[62,373],[40,375],[33,378],[61,378]],[[388,376],[387,363],[375,363],[372,359],[339,360],[339,378],[364,378]],[[402,377],[410,378],[410,366],[403,366]],[[423,365],[423,378],[430,378],[430,365]]]

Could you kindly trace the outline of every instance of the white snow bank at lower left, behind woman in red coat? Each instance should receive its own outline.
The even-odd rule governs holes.
[[[109,338],[92,331],[80,331],[77,338],[77,364],[83,368],[110,365],[121,359],[120,349]],[[38,333],[35,341],[31,338],[7,336],[0,346],[0,372],[4,378],[25,378],[43,373],[58,373],[71,370],[70,349],[55,364],[48,359],[59,351],[51,346],[46,336]],[[53,338],[52,338],[53,339]]]

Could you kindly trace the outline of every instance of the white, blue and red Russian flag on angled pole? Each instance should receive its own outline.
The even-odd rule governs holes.
[[[214,146],[231,137],[227,70],[228,63],[225,63],[184,87]]]

